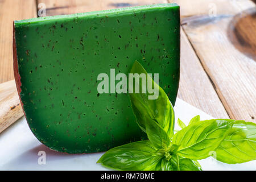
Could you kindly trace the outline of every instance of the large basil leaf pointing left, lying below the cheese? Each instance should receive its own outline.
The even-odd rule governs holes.
[[[163,156],[156,152],[150,141],[139,141],[110,149],[97,163],[118,170],[158,171],[161,170]]]

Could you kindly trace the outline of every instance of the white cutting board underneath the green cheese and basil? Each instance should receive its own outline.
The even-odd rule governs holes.
[[[201,120],[213,118],[179,98],[174,110],[176,130],[179,130],[177,118],[186,125],[196,115],[200,115]],[[46,164],[38,163],[39,151],[46,152]],[[0,170],[108,170],[96,164],[102,154],[72,155],[51,151],[34,137],[24,117],[0,134]],[[210,157],[199,162],[203,170],[256,170],[256,160],[243,164],[225,164]]]

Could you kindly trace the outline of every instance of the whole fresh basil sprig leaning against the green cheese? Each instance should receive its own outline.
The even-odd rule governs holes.
[[[145,73],[135,61],[131,73]],[[188,126],[178,119],[182,130],[174,134],[174,110],[166,93],[148,100],[148,93],[130,94],[138,125],[149,140],[125,144],[107,151],[97,163],[119,170],[199,171],[197,159],[213,156],[235,164],[256,159],[256,124],[233,119],[200,121],[199,115]],[[137,84],[142,86],[140,80]]]

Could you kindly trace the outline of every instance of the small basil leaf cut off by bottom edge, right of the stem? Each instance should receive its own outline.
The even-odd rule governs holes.
[[[176,154],[172,155],[169,163],[173,171],[201,171],[201,167],[197,166],[198,162],[196,163],[194,160],[186,159]]]

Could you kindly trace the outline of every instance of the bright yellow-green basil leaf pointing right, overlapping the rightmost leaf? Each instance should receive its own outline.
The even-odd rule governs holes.
[[[211,119],[188,125],[174,135],[177,154],[188,159],[205,159],[215,151],[232,128],[232,119]]]

